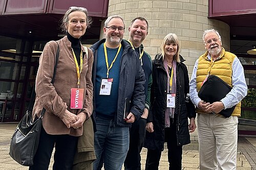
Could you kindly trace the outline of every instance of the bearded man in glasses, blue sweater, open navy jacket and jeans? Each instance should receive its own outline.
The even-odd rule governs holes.
[[[97,129],[94,134],[97,156],[94,170],[101,166],[101,157],[105,170],[118,170],[129,149],[131,123],[140,118],[144,109],[145,76],[138,54],[122,40],[122,17],[110,16],[103,31],[106,39],[91,46],[94,54],[93,114]],[[130,110],[127,116],[124,115],[125,110]]]

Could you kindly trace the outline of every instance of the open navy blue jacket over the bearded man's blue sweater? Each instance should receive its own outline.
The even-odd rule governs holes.
[[[105,42],[102,39],[90,48],[93,51],[94,63],[92,70],[92,82],[95,84],[96,81],[96,68],[97,68],[97,57],[98,57],[98,47],[100,44]],[[122,127],[131,127],[131,123],[126,123],[123,120],[124,114],[124,103],[125,98],[131,99],[131,110],[136,120],[140,118],[145,107],[145,94],[144,94],[144,84],[145,75],[139,62],[138,54],[133,50],[131,45],[124,40],[121,41],[123,47],[123,54],[120,61],[120,75],[119,75],[119,90],[118,90],[118,103],[117,112],[115,114],[115,125]],[[94,96],[95,96],[94,87]],[[95,113],[95,97],[93,98],[93,115],[97,116]],[[106,108],[108,109],[108,108]]]

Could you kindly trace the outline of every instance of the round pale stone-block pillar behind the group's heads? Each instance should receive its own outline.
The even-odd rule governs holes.
[[[205,53],[202,39],[204,30],[218,30],[223,47],[230,50],[229,26],[222,21],[207,18],[208,0],[110,0],[108,16],[110,15],[124,18],[125,39],[128,38],[128,28],[133,18],[142,16],[147,19],[149,29],[143,45],[153,59],[160,53],[165,35],[177,34],[181,44],[180,54],[186,60],[189,77],[196,59]]]

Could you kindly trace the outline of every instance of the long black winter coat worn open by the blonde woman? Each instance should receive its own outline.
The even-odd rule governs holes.
[[[190,143],[188,129],[188,117],[196,117],[196,109],[193,103],[185,102],[186,94],[189,93],[189,79],[187,67],[183,63],[185,60],[180,56],[181,62],[177,62],[177,82],[179,85],[178,97],[178,115],[176,120],[177,145]],[[147,117],[147,122],[153,122],[154,132],[146,132],[144,147],[152,150],[164,149],[165,133],[165,108],[167,95],[167,73],[164,69],[163,58],[161,54],[156,55],[152,61],[152,79],[151,86],[151,107]],[[172,139],[175,140],[175,139]]]

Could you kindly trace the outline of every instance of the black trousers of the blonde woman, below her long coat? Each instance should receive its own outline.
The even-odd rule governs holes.
[[[177,145],[176,122],[170,120],[170,128],[165,128],[168,149],[169,170],[181,170],[182,146]],[[145,170],[157,170],[162,151],[147,149]]]

